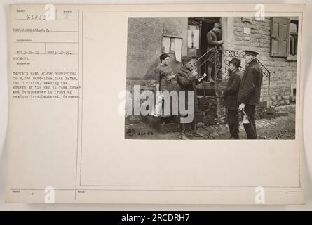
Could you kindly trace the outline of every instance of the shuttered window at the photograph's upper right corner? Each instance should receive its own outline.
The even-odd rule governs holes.
[[[271,20],[271,56],[297,59],[298,19],[274,17]]]

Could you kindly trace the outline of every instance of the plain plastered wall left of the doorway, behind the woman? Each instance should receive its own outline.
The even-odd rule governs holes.
[[[155,79],[163,34],[182,37],[182,18],[128,18],[127,79]],[[181,68],[174,54],[170,67],[174,72]]]

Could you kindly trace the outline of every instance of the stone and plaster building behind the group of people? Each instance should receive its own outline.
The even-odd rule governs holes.
[[[220,56],[222,69],[219,70],[224,81],[228,78],[227,62],[231,56],[243,60],[244,50],[257,51],[259,62],[266,71],[262,84],[262,105],[278,106],[294,102],[298,18],[128,18],[127,89],[132,90],[134,84],[140,85],[141,89],[155,89],[154,69],[160,63],[161,53],[169,53],[170,67],[174,72],[181,68],[182,56],[203,56],[207,49],[206,34],[215,22],[221,23],[219,39],[225,41]],[[198,62],[201,64],[201,61]],[[198,65],[198,70],[203,74],[205,64]],[[219,86],[222,89],[222,84]],[[215,105],[215,113],[220,117],[220,112],[223,112],[222,96],[218,94],[217,86],[208,89],[213,89],[211,96],[215,96],[218,102],[210,103]],[[201,88],[198,91],[200,97],[206,96],[206,90],[203,94]],[[207,95],[210,96],[209,92]],[[203,102],[207,103],[206,99]]]

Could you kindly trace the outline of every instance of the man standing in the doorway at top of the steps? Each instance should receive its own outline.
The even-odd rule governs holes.
[[[220,29],[221,25],[219,23],[215,23],[212,30],[210,30],[210,32],[207,33],[207,51],[209,51],[210,49],[219,48],[219,46],[221,46],[224,43],[224,41],[222,40],[218,41],[217,35],[219,34]],[[207,54],[207,59],[208,59],[207,61],[208,82],[215,82],[214,79],[217,73],[217,71],[215,71],[215,65],[217,66],[217,70],[221,66],[217,50],[210,51]],[[212,79],[212,72],[214,79]]]

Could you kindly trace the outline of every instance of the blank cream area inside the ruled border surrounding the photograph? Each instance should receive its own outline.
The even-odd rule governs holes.
[[[285,141],[124,139],[116,111],[121,101],[114,96],[126,88],[127,17],[166,15],[83,12],[81,185],[299,187],[298,135]],[[296,134],[298,125],[297,117]]]

